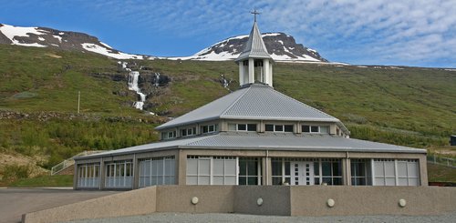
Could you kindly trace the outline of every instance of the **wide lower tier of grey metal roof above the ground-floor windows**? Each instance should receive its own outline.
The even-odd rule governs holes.
[[[245,149],[245,150],[283,150],[283,151],[319,151],[319,152],[389,152],[389,153],[426,153],[426,149],[399,147],[390,144],[336,137],[319,134],[293,133],[245,133],[222,132],[209,136],[176,139],[127,147],[104,153],[77,157],[110,157],[123,154],[158,151],[174,148],[187,149]]]

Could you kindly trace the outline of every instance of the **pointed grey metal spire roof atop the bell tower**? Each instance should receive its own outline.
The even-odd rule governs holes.
[[[246,58],[264,58],[273,60],[267,52],[256,21],[254,22],[252,31],[250,31],[249,39],[247,40],[247,43],[245,43],[243,52],[235,59],[235,61],[238,62]]]

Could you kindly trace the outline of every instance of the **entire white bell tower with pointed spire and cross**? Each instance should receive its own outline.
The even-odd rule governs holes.
[[[267,52],[258,25],[256,15],[260,13],[254,10],[254,26],[250,31],[249,39],[245,43],[244,50],[234,61],[239,65],[239,84],[241,86],[253,83],[264,83],[273,86],[273,63],[274,59]]]

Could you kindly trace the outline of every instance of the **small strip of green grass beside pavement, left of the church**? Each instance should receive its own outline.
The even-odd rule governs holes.
[[[8,185],[17,188],[73,187],[73,175],[40,176],[18,179]]]

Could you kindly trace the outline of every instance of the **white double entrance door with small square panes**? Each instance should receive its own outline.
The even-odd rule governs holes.
[[[314,162],[290,162],[291,185],[314,185]]]

